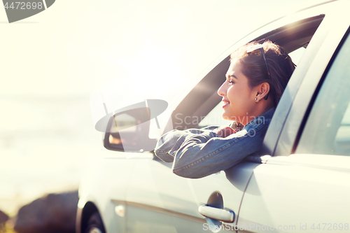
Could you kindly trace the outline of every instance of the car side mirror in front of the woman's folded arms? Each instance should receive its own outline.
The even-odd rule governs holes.
[[[156,139],[148,136],[150,129],[150,108],[134,108],[113,115],[107,125],[104,147],[123,152],[144,152],[154,150]]]

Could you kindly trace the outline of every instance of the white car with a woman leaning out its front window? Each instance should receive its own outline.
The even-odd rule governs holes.
[[[326,1],[252,31],[166,106],[167,113],[153,115],[167,119],[162,133],[216,125],[222,111],[217,90],[231,52],[268,39],[299,55],[260,155],[228,170],[197,179],[176,176],[172,163],[149,149],[156,139],[138,134],[150,127],[139,119],[146,112],[125,108],[109,115],[104,146],[116,156],[96,162],[81,181],[76,232],[349,231],[349,7],[349,1]],[[122,117],[126,110],[129,118]],[[120,139],[113,122],[129,129],[134,124],[129,141]]]

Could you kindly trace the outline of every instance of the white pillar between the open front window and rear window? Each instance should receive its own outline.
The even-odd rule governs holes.
[[[300,76],[301,83],[300,86],[297,87],[295,97],[289,99],[290,108],[283,109],[286,113],[286,118],[281,124],[281,133],[276,140],[274,150],[269,151],[269,155],[288,156],[294,153],[297,141],[300,138],[300,132],[304,127],[308,113],[313,105],[315,94],[317,94],[317,88],[323,76],[327,73],[328,66],[332,64],[332,57],[335,57],[337,54],[337,49],[342,45],[342,40],[346,38],[346,33],[349,30],[350,17],[348,16],[346,20],[344,20],[344,18],[339,17],[339,15],[342,14],[333,14],[325,18],[324,26],[321,27],[322,25],[320,25],[320,32],[316,31],[318,35],[315,34],[315,36],[318,36],[315,41],[321,43],[321,47],[318,49],[315,48],[315,50],[312,51],[314,53],[314,58],[310,59],[309,66],[303,67],[303,72],[301,71],[302,69],[299,69],[299,72],[293,73],[293,76]],[[336,25],[336,27],[333,27],[334,25]],[[325,36],[320,36],[320,34]],[[313,38],[311,42],[315,43],[315,41]],[[311,43],[309,46],[311,46]],[[307,50],[307,52],[309,51]],[[302,63],[302,61],[300,63]],[[285,95],[286,94],[283,94],[284,99],[282,97],[274,118],[272,118],[272,125],[276,124],[276,122],[274,122],[276,118],[281,117],[279,114],[281,108],[285,108],[283,107],[284,101],[287,99]],[[273,130],[275,130],[273,127],[267,130],[265,139]],[[276,134],[278,134],[278,132],[276,132]]]

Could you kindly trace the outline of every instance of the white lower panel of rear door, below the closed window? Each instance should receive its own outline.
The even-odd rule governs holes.
[[[349,210],[341,208],[350,206],[349,164],[350,157],[335,155],[271,157],[254,169],[238,232],[313,232],[318,224],[317,232],[329,232],[349,224]]]

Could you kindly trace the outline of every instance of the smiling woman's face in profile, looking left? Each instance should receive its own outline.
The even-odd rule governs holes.
[[[248,78],[241,73],[241,64],[232,61],[226,73],[226,80],[218,89],[223,97],[223,118],[246,125],[253,120],[256,108],[256,90],[248,84]]]

